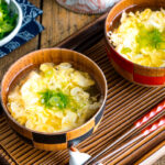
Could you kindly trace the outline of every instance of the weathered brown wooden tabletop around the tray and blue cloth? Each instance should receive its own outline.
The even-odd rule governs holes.
[[[21,56],[34,50],[54,47],[57,43],[99,16],[70,12],[58,6],[55,0],[30,1],[43,10],[43,15],[38,16],[37,21],[44,25],[45,30],[20,48],[0,58],[0,81],[9,66]],[[154,165],[165,165],[165,157],[162,157]]]

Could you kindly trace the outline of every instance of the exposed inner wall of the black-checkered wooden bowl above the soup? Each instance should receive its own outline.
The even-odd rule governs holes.
[[[10,116],[7,108],[9,91],[15,86],[15,84],[20,81],[20,79],[22,79],[28,74],[28,72],[38,67],[42,63],[59,64],[63,62],[70,63],[73,67],[75,67],[76,69],[87,72],[96,80],[101,97],[103,98],[103,102],[106,101],[106,95],[107,95],[106,78],[101,69],[91,59],[89,59],[88,57],[79,53],[76,53],[74,51],[68,51],[68,50],[61,50],[61,48],[41,50],[41,51],[33,52],[29,55],[25,55],[24,57],[15,62],[9,68],[9,70],[7,72],[7,74],[2,79],[2,85],[1,85],[2,106],[4,108],[4,112],[12,121],[14,120]]]

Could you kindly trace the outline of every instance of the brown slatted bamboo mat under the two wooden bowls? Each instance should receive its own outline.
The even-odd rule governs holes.
[[[107,55],[103,41],[85,52],[105,72],[108,80],[108,99],[103,119],[98,130],[77,145],[91,155],[128,130],[133,122],[165,98],[165,88],[147,88],[129,82],[116,73]],[[9,164],[63,165],[68,163],[68,152],[45,152],[25,144],[0,116],[0,154]]]

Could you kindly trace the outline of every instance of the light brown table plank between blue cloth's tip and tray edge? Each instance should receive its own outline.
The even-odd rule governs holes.
[[[55,46],[99,16],[70,12],[58,6],[55,0],[44,0],[43,11],[42,24],[45,31],[41,35],[41,47]]]

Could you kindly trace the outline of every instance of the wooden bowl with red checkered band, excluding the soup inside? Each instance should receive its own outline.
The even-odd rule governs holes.
[[[111,9],[106,20],[105,35],[108,57],[121,76],[142,86],[165,86],[165,67],[147,67],[125,59],[109,42],[107,33],[117,26],[114,20],[119,19],[123,10],[160,9],[161,7],[165,8],[164,0],[122,0]]]

